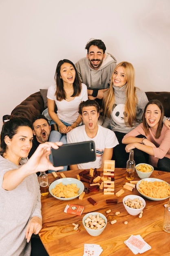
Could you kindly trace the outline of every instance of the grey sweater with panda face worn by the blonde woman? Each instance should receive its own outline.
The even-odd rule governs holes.
[[[146,104],[148,103],[148,98],[146,96],[146,93],[139,90],[139,88],[136,88],[136,94],[137,94],[137,106],[136,106],[136,116],[138,122],[134,122],[133,127],[126,126],[124,123],[124,107],[125,107],[125,102],[126,102],[126,95],[125,95],[125,90],[126,90],[126,85],[123,87],[119,88],[113,85],[114,91],[115,91],[115,104],[116,107],[113,109],[110,115],[110,119],[106,118],[104,120],[103,126],[106,128],[110,128],[114,132],[123,132],[123,133],[128,133],[130,132],[133,128],[138,126],[140,122],[142,121],[142,115],[144,112],[144,108]]]

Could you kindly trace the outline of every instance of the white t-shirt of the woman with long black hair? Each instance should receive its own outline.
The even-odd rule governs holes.
[[[82,83],[82,90],[80,95],[75,97],[72,101],[66,101],[65,99],[62,101],[57,101],[55,92],[56,85],[51,85],[47,92],[47,98],[55,101],[58,118],[68,124],[73,124],[79,116],[79,103],[88,99],[87,86]]]

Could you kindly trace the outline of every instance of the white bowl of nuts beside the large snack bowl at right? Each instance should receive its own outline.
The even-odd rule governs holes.
[[[146,206],[144,198],[139,195],[126,195],[123,204],[130,215],[138,215]]]

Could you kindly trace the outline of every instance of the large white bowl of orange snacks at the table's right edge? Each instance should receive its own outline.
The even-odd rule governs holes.
[[[170,184],[156,178],[139,180],[136,188],[142,196],[153,201],[166,200],[170,196]]]

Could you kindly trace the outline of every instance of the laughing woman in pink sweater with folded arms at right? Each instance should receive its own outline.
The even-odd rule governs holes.
[[[126,152],[137,148],[143,151],[145,156],[149,155],[149,163],[152,166],[160,171],[170,172],[170,130],[163,124],[163,116],[162,103],[158,100],[149,101],[144,109],[143,123],[128,132],[122,143],[127,144]],[[140,159],[135,161],[140,162]]]

